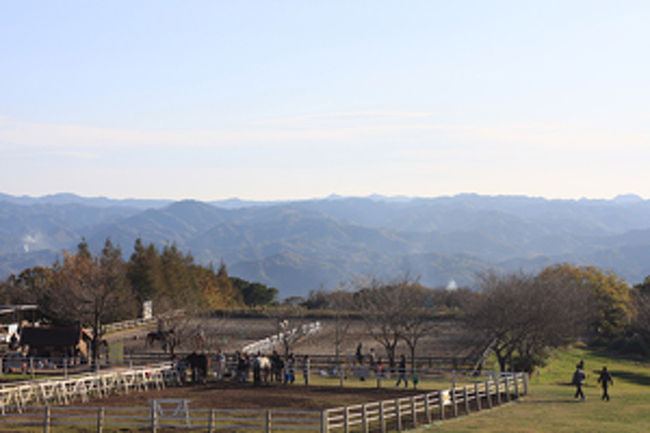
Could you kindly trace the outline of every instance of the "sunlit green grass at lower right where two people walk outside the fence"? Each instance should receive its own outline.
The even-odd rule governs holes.
[[[574,400],[570,386],[575,365],[585,361],[586,401]],[[596,380],[606,365],[612,373],[610,402],[601,401]],[[650,363],[620,360],[584,347],[558,350],[539,374],[531,378],[530,394],[517,403],[492,411],[447,420],[420,433],[650,432]]]

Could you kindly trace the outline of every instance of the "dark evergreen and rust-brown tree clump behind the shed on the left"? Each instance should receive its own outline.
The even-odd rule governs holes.
[[[91,329],[94,356],[103,325],[137,317],[144,301],[153,301],[158,315],[277,304],[277,295],[273,287],[230,277],[223,262],[215,270],[173,244],[161,251],[139,238],[128,261],[110,239],[96,256],[84,239],[52,266],[28,268],[0,282],[4,304],[35,304],[54,325]]]

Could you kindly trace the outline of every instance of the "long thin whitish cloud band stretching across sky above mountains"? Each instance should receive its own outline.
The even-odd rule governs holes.
[[[330,122],[331,120],[331,122]],[[106,149],[136,148],[292,148],[295,146],[354,146],[392,143],[402,147],[435,148],[453,142],[472,149],[530,149],[541,151],[647,150],[650,132],[594,129],[567,124],[455,125],[433,122],[430,113],[341,112],[247,127],[204,130],[128,130],[81,125],[17,122],[0,117],[0,149],[16,155],[32,149],[74,158],[97,158]],[[388,144],[390,145],[390,144]]]

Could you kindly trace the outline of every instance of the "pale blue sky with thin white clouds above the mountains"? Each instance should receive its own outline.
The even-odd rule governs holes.
[[[648,1],[0,0],[0,192],[650,198]]]

